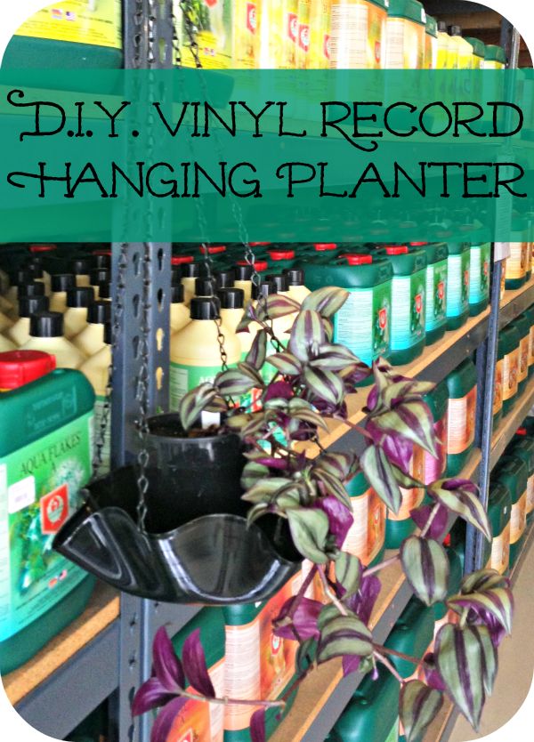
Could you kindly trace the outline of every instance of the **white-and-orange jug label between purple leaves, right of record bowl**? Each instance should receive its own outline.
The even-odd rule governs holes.
[[[373,488],[351,497],[351,503],[354,520],[343,548],[367,566],[384,545],[385,505]]]

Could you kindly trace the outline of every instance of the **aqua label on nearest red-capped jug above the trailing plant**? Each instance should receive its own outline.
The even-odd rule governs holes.
[[[348,291],[347,301],[334,315],[334,342],[370,366],[389,351],[392,285],[387,281]]]

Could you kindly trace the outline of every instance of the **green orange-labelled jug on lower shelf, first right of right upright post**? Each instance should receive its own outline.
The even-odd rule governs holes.
[[[491,524],[491,542],[484,539],[483,564],[506,575],[510,565],[510,517],[512,496],[510,489],[498,480],[490,481],[488,516]]]

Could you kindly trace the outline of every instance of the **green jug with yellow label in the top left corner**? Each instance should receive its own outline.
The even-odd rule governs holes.
[[[57,5],[57,4],[56,4]],[[36,11],[12,36],[4,68],[119,69],[123,66],[120,0],[67,0]]]

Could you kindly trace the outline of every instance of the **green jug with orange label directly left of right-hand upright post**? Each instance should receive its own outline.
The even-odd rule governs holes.
[[[449,389],[447,473],[456,477],[473,448],[476,415],[476,368],[465,359],[446,377]]]

